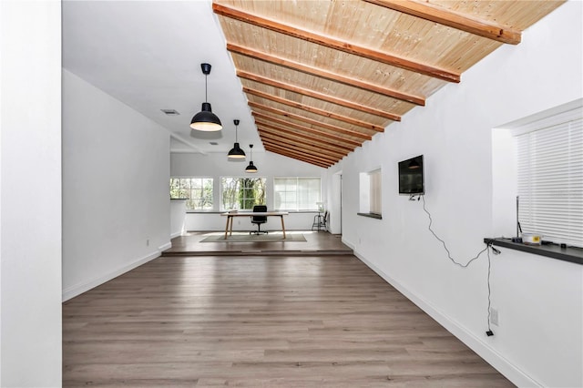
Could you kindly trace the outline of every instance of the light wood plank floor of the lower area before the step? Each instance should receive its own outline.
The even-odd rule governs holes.
[[[64,386],[513,386],[348,255],[160,257],[63,326]]]

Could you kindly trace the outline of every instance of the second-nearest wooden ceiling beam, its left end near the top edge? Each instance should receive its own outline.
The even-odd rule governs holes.
[[[461,79],[459,73],[455,73],[444,68],[415,62],[403,56],[395,56],[367,47],[356,46],[349,41],[340,40],[332,36],[322,36],[310,31],[304,31],[298,26],[285,25],[272,19],[258,15],[251,15],[247,12],[230,6],[213,3],[212,10],[217,15],[223,15],[231,19],[239,20],[241,22],[251,24],[252,26],[267,28],[280,34],[293,36],[298,39],[329,47],[335,50],[340,50],[354,56],[362,56],[364,58],[382,62],[387,65],[398,66],[406,70],[414,71],[415,73],[424,74],[425,76],[435,77],[449,82],[460,82]]]

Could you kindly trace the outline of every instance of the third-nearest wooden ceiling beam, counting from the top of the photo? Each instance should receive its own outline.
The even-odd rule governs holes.
[[[250,47],[237,46],[228,43],[227,50],[229,50],[231,53],[240,54],[242,56],[249,56],[251,58],[259,59],[264,62],[269,62],[273,65],[284,66],[292,70],[301,71],[302,73],[308,74],[310,76],[322,77],[325,79],[329,79],[333,82],[340,82],[341,84],[347,85],[349,87],[358,87],[359,89],[377,93],[386,97],[400,99],[415,105],[420,106],[425,105],[424,97],[409,95],[406,93],[399,92],[398,90],[390,89],[388,87],[379,87],[378,85],[374,85],[369,82],[364,82],[361,81],[360,79],[344,77],[338,73],[332,73],[331,71],[322,69],[320,67],[307,66],[300,62],[292,61],[291,59],[287,59],[281,56],[273,56],[265,52],[254,50]]]

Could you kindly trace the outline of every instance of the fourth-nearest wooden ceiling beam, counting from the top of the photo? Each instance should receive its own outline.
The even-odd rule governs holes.
[[[270,87],[277,87],[277,88],[280,88],[283,90],[288,90],[288,91],[291,91],[294,93],[301,94],[303,96],[321,99],[322,101],[331,102],[332,104],[340,105],[342,107],[350,107],[351,109],[360,110],[361,112],[368,113],[370,115],[384,117],[384,118],[388,118],[388,119],[394,120],[394,121],[401,120],[400,116],[394,115],[392,113],[384,112],[383,110],[375,109],[373,107],[365,107],[365,106],[363,106],[361,104],[357,104],[353,101],[343,99],[343,98],[333,97],[331,95],[328,95],[328,94],[325,94],[322,92],[318,92],[316,90],[308,89],[306,87],[296,87],[295,85],[292,85],[292,84],[287,84],[287,83],[281,82],[281,81],[275,81],[273,79],[261,77],[257,74],[252,74],[252,73],[242,71],[242,70],[237,70],[237,76],[241,77],[241,78],[249,79],[251,81],[259,82],[261,84],[268,85]]]

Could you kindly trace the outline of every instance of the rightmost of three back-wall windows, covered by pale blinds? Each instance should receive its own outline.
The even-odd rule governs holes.
[[[320,178],[274,178],[275,209],[318,210],[321,187]]]

